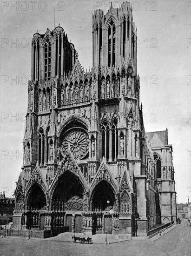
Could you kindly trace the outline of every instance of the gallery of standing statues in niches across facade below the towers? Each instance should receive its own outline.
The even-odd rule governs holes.
[[[110,84],[111,83],[111,84]],[[128,95],[131,97],[132,95],[132,78],[129,75],[127,79],[127,86],[125,82],[125,74],[122,74],[121,78],[121,93],[124,95]],[[56,105],[56,94],[57,94],[57,88],[54,84],[53,86],[53,98],[51,102],[51,95],[50,90],[47,91],[40,91],[39,92],[39,112],[46,111],[50,107]],[[101,80],[101,93],[100,93],[101,99],[109,99],[114,97],[119,97],[120,95],[120,78],[118,77],[117,80],[112,79],[110,81],[109,79]],[[60,105],[68,105],[73,103],[79,103],[84,101],[89,101],[90,99],[96,98],[97,96],[97,80],[94,78],[93,83],[86,82],[84,84],[76,84],[76,85],[66,85],[64,88],[61,87],[61,93],[60,93]],[[30,93],[30,108],[33,110],[34,106],[34,91],[31,90]]]

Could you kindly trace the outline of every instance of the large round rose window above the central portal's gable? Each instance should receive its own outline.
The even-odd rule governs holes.
[[[83,128],[70,128],[63,135],[61,151],[70,148],[75,159],[84,158],[89,151],[89,137],[85,129]]]

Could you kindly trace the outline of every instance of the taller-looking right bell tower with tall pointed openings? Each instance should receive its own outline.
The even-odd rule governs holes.
[[[137,70],[137,29],[132,21],[132,7],[123,2],[104,15],[96,10],[92,17],[93,67],[118,67],[131,59]]]

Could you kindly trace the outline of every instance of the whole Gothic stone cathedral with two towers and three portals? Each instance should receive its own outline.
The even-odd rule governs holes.
[[[123,2],[92,16],[92,68],[60,25],[32,40],[13,228],[148,236],[176,222],[168,130],[145,133],[137,29]]]

